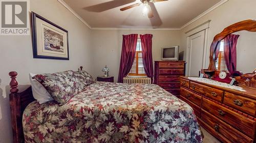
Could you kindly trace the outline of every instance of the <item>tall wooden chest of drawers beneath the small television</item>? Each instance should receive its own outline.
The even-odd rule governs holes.
[[[155,61],[154,83],[179,97],[179,76],[184,75],[184,67],[184,61]]]

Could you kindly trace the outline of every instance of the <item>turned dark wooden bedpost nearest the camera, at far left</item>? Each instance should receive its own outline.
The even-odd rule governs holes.
[[[14,143],[21,143],[24,142],[22,138],[23,131],[22,129],[22,109],[20,108],[20,96],[18,96],[18,82],[16,81],[16,76],[18,75],[17,72],[11,71],[9,72],[11,76],[10,82],[10,107],[11,107],[11,119],[12,119],[12,133],[13,133],[13,142]]]

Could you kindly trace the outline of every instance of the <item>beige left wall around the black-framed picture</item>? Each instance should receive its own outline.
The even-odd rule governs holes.
[[[29,83],[29,73],[92,70],[91,30],[58,1],[30,1],[33,12],[69,31],[69,61],[33,59],[31,36],[0,36],[0,142],[12,142],[9,106],[9,71],[17,71],[20,88]],[[21,90],[20,90],[21,91]]]

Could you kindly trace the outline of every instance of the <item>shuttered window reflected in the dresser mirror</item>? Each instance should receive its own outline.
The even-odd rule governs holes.
[[[225,62],[225,56],[224,56],[224,40],[221,41],[220,43],[220,52],[218,55],[218,58],[216,60],[216,69],[219,71],[227,71],[227,65]]]

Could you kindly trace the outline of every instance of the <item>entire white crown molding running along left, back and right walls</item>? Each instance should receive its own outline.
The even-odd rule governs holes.
[[[205,12],[203,12],[202,14],[198,15],[196,18],[192,19],[191,21],[187,22],[186,24],[184,24],[183,26],[181,26],[180,28],[145,28],[145,27],[136,27],[136,28],[117,28],[117,27],[91,27],[85,20],[82,19],[82,17],[80,17],[72,8],[69,7],[68,4],[66,4],[63,0],[58,0],[58,2],[63,5],[65,8],[67,8],[75,17],[77,17],[79,20],[81,20],[84,24],[86,24],[91,30],[155,30],[155,31],[174,31],[174,30],[182,30],[184,27],[186,27],[187,25],[195,22],[196,20],[198,20],[199,18],[205,16],[206,14],[208,14],[209,12],[215,10],[216,8],[218,8],[219,6],[223,5],[224,3],[226,3],[228,0],[222,0],[219,3],[217,3],[216,5],[212,6],[211,8],[209,8],[208,10],[206,10]]]

